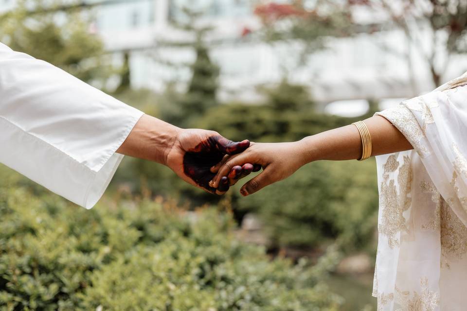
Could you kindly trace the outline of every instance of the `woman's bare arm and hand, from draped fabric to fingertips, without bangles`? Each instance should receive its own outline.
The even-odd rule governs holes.
[[[413,149],[399,130],[383,117],[365,120],[372,137],[372,155],[383,155]],[[223,176],[245,163],[259,164],[263,172],[240,190],[252,194],[272,183],[287,178],[301,166],[317,160],[352,160],[362,154],[362,143],[355,125],[347,125],[296,142],[255,143],[240,155],[226,157],[211,169],[217,173],[211,186],[218,187]]]

